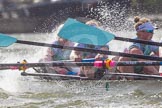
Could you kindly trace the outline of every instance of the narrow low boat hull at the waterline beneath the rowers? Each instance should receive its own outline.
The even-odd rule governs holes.
[[[28,73],[22,72],[22,76],[34,76],[46,80],[162,80],[159,75],[135,74],[135,73],[109,73],[101,78],[88,78],[78,75],[62,75],[55,73]]]

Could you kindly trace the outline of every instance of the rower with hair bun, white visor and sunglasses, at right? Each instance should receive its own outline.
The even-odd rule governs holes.
[[[140,18],[136,16],[134,18],[135,29],[136,29],[136,39],[152,41],[154,34],[154,26],[151,21],[147,18]],[[141,43],[133,43],[129,46],[130,54],[140,54],[149,56],[159,56],[159,49],[157,46],[145,45]],[[143,59],[135,59],[128,57],[120,57],[119,61],[143,61]],[[128,73],[139,73],[139,74],[158,74],[159,66],[118,66],[117,70],[120,72]]]

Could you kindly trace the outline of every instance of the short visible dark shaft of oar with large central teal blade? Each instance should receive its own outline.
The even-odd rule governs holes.
[[[162,46],[162,43],[159,43],[159,42],[130,39],[130,38],[124,38],[124,37],[117,37],[117,36],[114,39],[120,40],[120,41],[126,41],[126,42],[135,42],[135,43],[141,43],[141,44],[147,44],[147,45]]]

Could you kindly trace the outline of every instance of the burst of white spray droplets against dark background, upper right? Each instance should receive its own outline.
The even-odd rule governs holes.
[[[99,2],[97,8],[91,8],[90,15],[102,23],[102,28],[106,31],[132,30],[132,21],[128,17],[128,5],[118,2]]]

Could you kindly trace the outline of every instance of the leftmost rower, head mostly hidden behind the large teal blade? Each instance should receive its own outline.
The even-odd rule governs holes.
[[[58,31],[61,29],[62,25],[58,28]],[[73,43],[63,39],[61,37],[57,37],[52,44],[62,45],[62,46],[73,46]],[[39,60],[39,62],[49,62],[49,61],[59,61],[59,60],[69,60],[71,50],[65,50],[60,48],[48,48],[46,51],[46,55]],[[62,67],[41,67],[40,69],[35,69],[39,73],[55,73],[55,74],[64,74],[64,75],[77,75],[77,72],[72,72],[70,67],[62,66]]]

